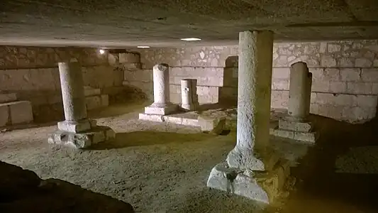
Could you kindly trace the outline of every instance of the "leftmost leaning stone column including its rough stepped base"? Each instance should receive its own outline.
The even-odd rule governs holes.
[[[65,121],[57,123],[58,131],[49,136],[49,143],[87,148],[114,138],[115,133],[109,127],[96,126],[95,120],[87,119],[84,81],[79,62],[71,60],[58,65]]]

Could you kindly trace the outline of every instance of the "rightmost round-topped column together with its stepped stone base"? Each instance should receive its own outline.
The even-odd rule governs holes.
[[[319,134],[309,119],[312,73],[306,62],[296,62],[290,67],[288,115],[279,119],[270,134],[305,143],[315,143]]]

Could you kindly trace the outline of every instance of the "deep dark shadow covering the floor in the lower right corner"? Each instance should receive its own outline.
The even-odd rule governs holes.
[[[291,169],[296,191],[290,193],[280,213],[378,212],[374,195],[377,174],[335,173],[338,156],[352,147],[377,145],[376,130],[372,124],[353,125],[322,116],[316,119],[321,136],[301,165]]]

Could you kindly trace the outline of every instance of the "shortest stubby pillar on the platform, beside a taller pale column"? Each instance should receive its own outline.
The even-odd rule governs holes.
[[[197,80],[181,80],[181,108],[185,111],[192,111],[198,107]]]

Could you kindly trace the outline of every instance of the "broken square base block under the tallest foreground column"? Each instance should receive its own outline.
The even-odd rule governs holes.
[[[209,175],[207,186],[264,203],[274,202],[289,177],[289,162],[279,161],[271,171],[230,168],[219,163]]]

